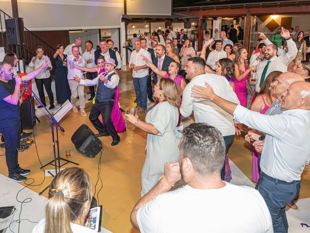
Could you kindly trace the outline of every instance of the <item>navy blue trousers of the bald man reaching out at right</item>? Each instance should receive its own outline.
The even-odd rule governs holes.
[[[269,209],[274,233],[287,233],[289,225],[285,214],[285,207],[300,191],[300,181],[282,184],[279,180],[271,181],[270,177],[261,172],[256,183],[257,189],[263,196]]]

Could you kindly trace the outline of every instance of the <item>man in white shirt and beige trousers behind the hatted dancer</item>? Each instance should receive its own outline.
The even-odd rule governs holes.
[[[79,108],[82,116],[87,116],[85,112],[85,96],[84,96],[84,85],[80,84],[75,80],[77,76],[79,79],[84,79],[84,72],[74,68],[72,64],[85,67],[85,61],[81,55],[79,55],[78,46],[72,47],[72,55],[67,57],[68,64],[68,83],[71,90],[71,104],[73,105],[73,112],[77,113],[78,108],[76,107],[77,98],[79,98]]]

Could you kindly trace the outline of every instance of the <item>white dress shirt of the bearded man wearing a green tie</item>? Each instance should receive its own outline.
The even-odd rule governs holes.
[[[265,45],[271,45],[272,44],[270,42],[270,40],[268,40],[268,39],[264,40],[263,42],[265,43]],[[275,56],[274,58],[270,59],[271,63],[269,64],[265,78],[272,71],[286,72],[287,66],[296,57],[296,55],[297,55],[296,44],[294,43],[294,41],[292,39],[289,39],[286,42],[287,42],[287,47],[288,47],[289,51],[285,55],[282,55],[279,57]],[[261,90],[260,82],[261,82],[261,77],[263,74],[263,69],[266,65],[267,65],[267,61],[263,61],[263,62],[260,62],[257,64],[257,83],[256,83],[256,87],[255,87],[256,92],[260,92],[260,90]]]

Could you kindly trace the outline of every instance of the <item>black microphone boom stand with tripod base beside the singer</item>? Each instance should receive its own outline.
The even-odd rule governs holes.
[[[50,161],[49,163],[47,163],[44,166],[41,166],[40,169],[42,169],[43,167],[47,166],[47,165],[53,165],[55,167],[55,174],[57,174],[58,172],[60,172],[60,168],[61,166],[64,166],[68,163],[72,163],[75,165],[79,165],[78,163],[74,163],[71,162],[67,159],[64,159],[62,157],[60,157],[60,152],[59,152],[59,139],[58,139],[58,128],[61,130],[61,132],[64,132],[64,129],[60,126],[60,124],[58,123],[58,121],[54,118],[54,116],[47,110],[46,106],[44,106],[44,104],[41,102],[41,100],[38,98],[38,96],[33,92],[33,90],[30,88],[28,81],[23,81],[23,83],[25,84],[25,86],[27,86],[27,88],[29,90],[31,90],[31,93],[33,95],[33,97],[39,102],[39,104],[45,109],[45,111],[47,112],[47,114],[50,116],[50,127],[51,127],[51,133],[52,133],[52,142],[53,142],[53,153],[54,153],[54,159],[52,161]],[[56,141],[55,141],[55,135],[54,135],[54,123],[56,125]],[[56,157],[56,147],[55,147],[55,142],[57,144],[57,157]],[[58,165],[57,165],[57,160],[58,160]],[[60,164],[60,161],[65,161],[64,164]],[[57,170],[58,168],[58,170]],[[48,171],[48,173],[51,176],[54,176],[50,171]],[[42,190],[39,195],[42,195],[44,193],[45,190],[47,190],[49,186],[47,186],[44,190]]]

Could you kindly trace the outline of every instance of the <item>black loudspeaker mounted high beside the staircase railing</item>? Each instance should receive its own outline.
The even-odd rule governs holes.
[[[9,45],[22,45],[24,43],[24,19],[5,19],[6,39]]]

